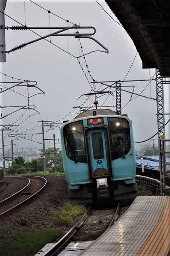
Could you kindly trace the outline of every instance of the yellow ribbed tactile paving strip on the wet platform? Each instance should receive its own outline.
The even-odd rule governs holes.
[[[137,254],[137,256],[166,256],[170,250],[170,196],[166,197],[165,206],[158,224]]]

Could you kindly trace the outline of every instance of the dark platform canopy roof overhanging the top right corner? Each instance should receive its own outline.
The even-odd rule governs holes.
[[[143,68],[170,77],[170,0],[106,0],[133,40]]]

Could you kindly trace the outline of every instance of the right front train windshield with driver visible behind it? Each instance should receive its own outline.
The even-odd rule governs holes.
[[[108,128],[111,146],[111,160],[125,157],[129,152],[130,130],[129,122],[125,118],[108,118]]]

